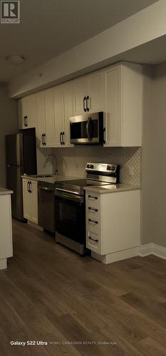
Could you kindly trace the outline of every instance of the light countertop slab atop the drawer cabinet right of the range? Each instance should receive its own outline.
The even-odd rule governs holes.
[[[127,192],[128,190],[138,190],[140,186],[138,185],[128,185],[128,184],[108,184],[103,186],[88,186],[85,187],[85,192],[94,192],[99,194],[105,193],[118,193],[118,192]]]

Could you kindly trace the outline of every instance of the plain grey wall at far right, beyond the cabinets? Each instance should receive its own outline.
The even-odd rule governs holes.
[[[142,243],[166,247],[166,63],[145,67]]]

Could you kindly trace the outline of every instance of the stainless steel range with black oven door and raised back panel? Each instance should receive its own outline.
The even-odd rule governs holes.
[[[120,166],[88,162],[85,171],[85,179],[57,182],[55,189],[56,242],[81,255],[86,251],[84,187],[119,183]]]

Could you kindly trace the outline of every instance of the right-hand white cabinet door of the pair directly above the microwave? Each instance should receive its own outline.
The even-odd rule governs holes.
[[[105,99],[105,75],[103,72],[92,75],[89,78],[89,100],[90,112],[104,111]]]

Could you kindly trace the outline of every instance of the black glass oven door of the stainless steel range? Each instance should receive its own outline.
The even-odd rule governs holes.
[[[67,192],[55,192],[56,232],[85,245],[84,197]]]

